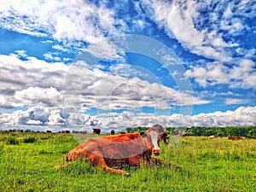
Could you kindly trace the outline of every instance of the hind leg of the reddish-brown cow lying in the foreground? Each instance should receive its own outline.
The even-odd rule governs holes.
[[[93,166],[99,167],[106,172],[112,172],[114,174],[130,176],[129,172],[125,172],[120,169],[113,169],[106,164],[106,161],[102,156],[91,154],[90,158],[85,158],[85,161],[90,161]]]

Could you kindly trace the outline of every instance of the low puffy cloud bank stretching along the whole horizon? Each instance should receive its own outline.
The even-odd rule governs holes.
[[[28,108],[14,113],[0,114],[0,125],[67,125],[67,128],[90,130],[101,127],[104,130],[124,129],[131,126],[151,126],[156,123],[171,127],[189,126],[255,126],[256,107],[240,107],[235,111],[200,113],[189,116],[183,114],[154,115],[148,113],[108,113],[90,116],[84,113],[68,113],[63,116],[60,108]]]

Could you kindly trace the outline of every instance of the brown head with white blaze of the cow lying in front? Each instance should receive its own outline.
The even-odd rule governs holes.
[[[147,149],[150,149],[152,154],[159,155],[160,154],[160,139],[164,139],[167,137],[166,132],[159,132],[158,129],[154,127],[150,128],[146,132],[141,132],[141,136],[143,137],[143,143]]]

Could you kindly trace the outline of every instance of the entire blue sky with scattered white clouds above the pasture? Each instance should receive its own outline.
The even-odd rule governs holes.
[[[256,125],[253,1],[3,0],[0,21],[2,129]]]

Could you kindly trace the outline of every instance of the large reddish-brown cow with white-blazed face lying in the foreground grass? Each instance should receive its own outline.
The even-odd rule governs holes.
[[[138,167],[141,163],[146,165],[166,165],[178,167],[172,163],[152,157],[152,154],[159,155],[159,142],[166,137],[165,132],[159,132],[154,127],[143,133],[127,133],[115,136],[90,138],[78,147],[67,153],[68,166],[71,161],[79,157],[90,162],[93,166],[99,167],[106,172],[128,176],[130,173],[116,166]],[[61,168],[63,166],[57,166]]]

